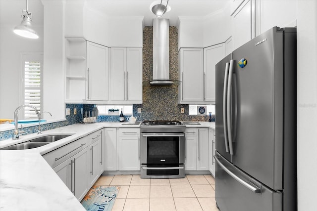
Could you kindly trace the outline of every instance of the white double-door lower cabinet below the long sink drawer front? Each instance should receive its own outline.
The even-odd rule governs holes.
[[[62,162],[53,170],[80,201],[88,191],[88,147]]]

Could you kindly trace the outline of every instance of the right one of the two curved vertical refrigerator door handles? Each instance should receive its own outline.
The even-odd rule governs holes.
[[[231,118],[231,86],[232,86],[232,77],[233,77],[233,63],[234,61],[230,60],[229,74],[228,74],[228,87],[227,87],[227,131],[228,131],[228,143],[229,143],[229,152],[230,155],[233,155],[233,145],[232,145],[232,118]]]

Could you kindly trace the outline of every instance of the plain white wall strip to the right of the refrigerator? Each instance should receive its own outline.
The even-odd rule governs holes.
[[[317,1],[297,1],[298,211],[317,201]]]

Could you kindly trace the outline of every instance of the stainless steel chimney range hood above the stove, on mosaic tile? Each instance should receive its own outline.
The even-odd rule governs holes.
[[[153,19],[153,81],[150,84],[174,84],[169,79],[169,19]]]

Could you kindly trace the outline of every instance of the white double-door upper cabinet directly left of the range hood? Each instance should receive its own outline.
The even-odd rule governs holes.
[[[142,48],[111,47],[110,101],[142,103]]]

